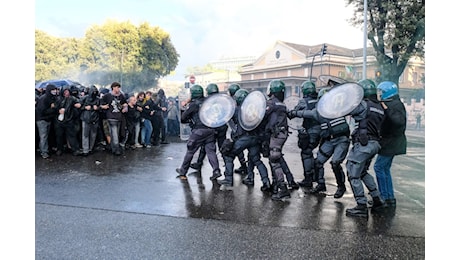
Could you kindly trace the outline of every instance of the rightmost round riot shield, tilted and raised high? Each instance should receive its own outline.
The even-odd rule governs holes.
[[[363,88],[357,83],[344,83],[327,91],[318,101],[318,113],[329,119],[345,116],[358,107],[363,99]]]

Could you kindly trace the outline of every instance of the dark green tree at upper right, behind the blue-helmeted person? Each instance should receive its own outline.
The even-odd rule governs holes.
[[[354,7],[350,22],[362,26],[364,1]],[[381,80],[399,82],[411,57],[425,56],[425,0],[367,0],[367,38],[376,53]]]

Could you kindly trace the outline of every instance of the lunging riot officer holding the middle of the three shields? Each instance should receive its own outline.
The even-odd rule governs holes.
[[[265,164],[262,162],[260,157],[260,141],[259,141],[259,128],[255,128],[250,131],[246,131],[241,127],[238,117],[241,113],[241,104],[243,103],[246,96],[249,94],[249,91],[246,89],[239,89],[236,91],[234,98],[237,104],[235,113],[233,114],[232,119],[229,121],[229,125],[232,129],[231,140],[227,140],[225,145],[222,146],[221,152],[224,157],[225,162],[225,178],[223,180],[218,180],[218,183],[224,187],[233,186],[233,161],[238,154],[241,154],[244,150],[248,150],[248,159],[251,165],[257,167],[257,170],[260,173],[262,180],[262,191],[267,191],[270,189],[270,180],[268,178],[268,170]],[[248,172],[248,175],[252,175],[252,180],[254,178],[253,169]]]

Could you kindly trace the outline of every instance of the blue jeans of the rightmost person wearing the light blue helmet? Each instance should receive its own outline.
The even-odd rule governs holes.
[[[391,164],[394,156],[377,155],[374,163],[375,176],[383,200],[394,199],[393,180],[391,179]]]

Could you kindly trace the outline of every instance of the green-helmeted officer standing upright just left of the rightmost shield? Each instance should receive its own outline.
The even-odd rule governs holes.
[[[293,110],[288,112],[289,119],[294,118],[293,111],[312,110],[316,107],[316,103],[318,102],[318,93],[316,92],[315,83],[307,80],[302,83],[301,88],[303,98],[299,100],[299,103]],[[298,130],[299,139],[297,145],[301,150],[300,156],[302,158],[304,179],[299,182],[299,185],[305,188],[312,188],[313,180],[317,180],[317,178],[314,177],[315,158],[313,156],[313,150],[319,144],[319,133],[321,128],[319,122],[314,118],[303,118],[302,127],[302,129]]]

